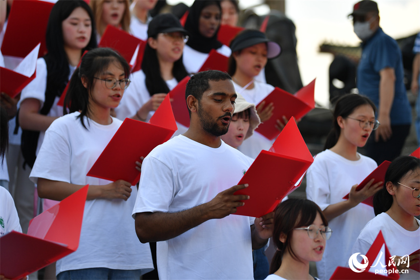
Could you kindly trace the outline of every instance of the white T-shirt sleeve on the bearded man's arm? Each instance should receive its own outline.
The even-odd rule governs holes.
[[[167,165],[147,156],[142,163],[133,217],[142,212],[168,212],[176,190],[173,178],[174,175]]]

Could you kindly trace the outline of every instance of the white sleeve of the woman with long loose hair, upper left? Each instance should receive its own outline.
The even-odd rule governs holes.
[[[41,107],[45,101],[45,90],[47,88],[47,65],[43,58],[37,60],[36,77],[22,89],[21,100],[35,98],[41,102]]]

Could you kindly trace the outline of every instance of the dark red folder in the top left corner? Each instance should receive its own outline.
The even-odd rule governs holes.
[[[47,53],[45,33],[54,3],[40,0],[14,1],[10,9],[1,53],[25,57],[41,42],[39,57]]]

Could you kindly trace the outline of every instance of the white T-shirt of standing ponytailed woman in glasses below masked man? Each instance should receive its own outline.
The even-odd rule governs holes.
[[[318,153],[314,163],[306,173],[306,195],[321,210],[335,204],[350,192],[353,185],[359,184],[375,168],[377,163],[357,153],[359,160],[348,160],[333,151]],[[320,279],[330,279],[337,266],[348,266],[351,249],[361,229],[375,217],[373,207],[359,203],[329,221],[333,235],[328,239],[322,260],[316,262]]]

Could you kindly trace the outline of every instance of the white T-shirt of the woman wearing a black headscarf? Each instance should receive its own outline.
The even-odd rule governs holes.
[[[227,45],[222,45],[216,51],[227,57],[230,57],[232,52]],[[189,45],[185,45],[182,55],[182,62],[184,63],[185,69],[189,74],[195,74],[198,72],[198,70],[200,70],[201,66],[203,66],[208,57],[208,53],[199,52],[191,48]]]

